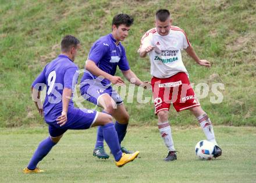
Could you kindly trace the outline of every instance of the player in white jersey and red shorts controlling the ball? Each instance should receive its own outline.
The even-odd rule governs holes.
[[[155,14],[155,28],[147,31],[141,38],[140,57],[150,57],[151,85],[155,102],[155,114],[158,116],[158,129],[169,150],[165,161],[177,159],[173,145],[172,131],[168,121],[170,103],[177,112],[189,109],[197,118],[208,141],[215,144],[214,157],[221,156],[222,150],[215,140],[212,123],[207,113],[202,110],[193,88],[189,74],[182,62],[181,51],[184,49],[200,66],[210,67],[207,60],[200,60],[191,46],[185,32],[172,26],[170,12],[159,9]]]

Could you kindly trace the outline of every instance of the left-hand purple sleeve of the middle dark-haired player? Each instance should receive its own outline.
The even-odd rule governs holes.
[[[105,55],[106,51],[108,51],[108,47],[109,45],[105,44],[104,42],[95,42],[90,50],[88,60],[91,60],[97,64]]]

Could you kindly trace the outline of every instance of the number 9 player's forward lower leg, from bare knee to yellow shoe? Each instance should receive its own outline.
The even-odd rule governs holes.
[[[122,153],[119,145],[118,134],[116,133],[114,124],[112,123],[112,116],[106,113],[99,113],[95,122],[91,127],[101,125],[104,139],[111,149],[111,152],[116,160],[116,166],[122,167],[126,163],[133,161],[140,152],[135,152],[132,154]]]

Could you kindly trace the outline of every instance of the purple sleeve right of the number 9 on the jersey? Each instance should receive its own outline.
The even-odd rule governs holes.
[[[77,77],[78,77],[78,67],[70,67],[65,71],[64,74],[64,88],[73,89],[74,85],[77,83]]]

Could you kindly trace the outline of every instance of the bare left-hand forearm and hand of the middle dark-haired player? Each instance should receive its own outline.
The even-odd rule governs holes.
[[[87,60],[86,61],[86,70],[90,71],[90,73],[94,74],[95,76],[102,76],[109,81],[111,81],[113,84],[124,84],[125,82],[120,78],[119,76],[112,76],[111,74],[108,74],[104,72],[103,70],[99,69],[98,66],[96,66],[95,62],[93,60]]]

